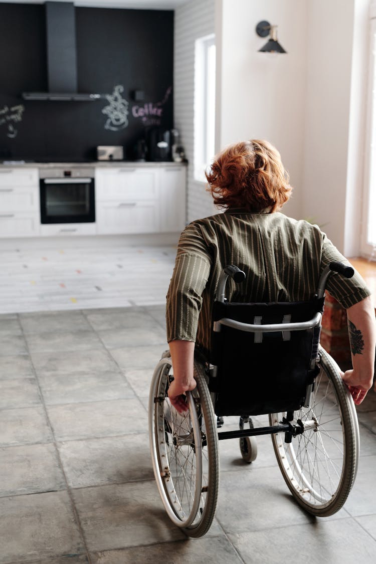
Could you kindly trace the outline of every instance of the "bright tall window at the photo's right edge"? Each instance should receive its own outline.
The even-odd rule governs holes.
[[[376,2],[371,6],[370,15],[369,103],[362,252],[376,258]]]

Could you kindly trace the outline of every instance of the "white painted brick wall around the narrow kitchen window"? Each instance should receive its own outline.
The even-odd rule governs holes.
[[[188,159],[187,221],[217,213],[205,184],[193,179],[194,42],[214,33],[215,0],[191,0],[175,10],[174,122]]]

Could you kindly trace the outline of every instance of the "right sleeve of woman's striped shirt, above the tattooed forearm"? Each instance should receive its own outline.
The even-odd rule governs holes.
[[[350,262],[331,243],[325,233],[322,233],[320,274],[332,261],[344,262],[346,265],[351,266]],[[328,278],[326,289],[345,309],[370,296],[370,291],[365,281],[356,270],[352,278],[345,278],[337,272],[333,272]]]

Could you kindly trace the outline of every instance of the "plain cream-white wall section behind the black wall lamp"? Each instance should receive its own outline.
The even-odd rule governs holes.
[[[268,39],[255,32],[260,20],[278,25],[287,54],[258,52]],[[301,217],[307,1],[217,0],[215,33],[218,147],[250,138],[275,144],[294,186],[284,211]]]

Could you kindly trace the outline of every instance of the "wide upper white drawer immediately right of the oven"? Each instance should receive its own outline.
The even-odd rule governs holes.
[[[158,170],[111,169],[97,171],[96,200],[152,200],[158,197]]]

